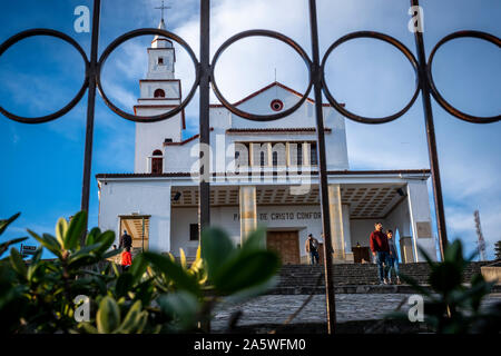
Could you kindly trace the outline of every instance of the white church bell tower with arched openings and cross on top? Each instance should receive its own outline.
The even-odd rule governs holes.
[[[164,16],[158,29],[165,30]],[[175,78],[176,53],[173,42],[155,36],[147,49],[148,72],[139,80],[140,98],[134,107],[137,116],[156,116],[181,102],[180,80]],[[185,129],[185,112],[157,122],[136,122],[135,172],[161,174],[168,157],[164,142],[179,142]]]

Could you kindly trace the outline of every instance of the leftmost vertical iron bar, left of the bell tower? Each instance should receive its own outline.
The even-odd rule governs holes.
[[[97,75],[97,55],[99,40],[99,17],[100,17],[101,1],[94,1],[92,9],[92,39],[90,43],[90,66],[89,66],[89,92],[87,93],[87,127],[86,127],[86,149],[84,156],[84,181],[81,188],[81,210],[89,211],[89,190],[90,190],[90,170],[92,164],[92,139],[94,139],[94,111],[96,103],[96,75]],[[86,229],[88,225],[88,214],[86,221]],[[80,238],[80,244],[84,246],[86,234]]]

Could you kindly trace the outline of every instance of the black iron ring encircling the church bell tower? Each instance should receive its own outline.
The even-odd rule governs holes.
[[[191,61],[194,63],[195,67],[195,81],[193,83],[191,89],[189,90],[188,96],[186,97],[185,100],[181,101],[181,103],[179,103],[175,109],[165,112],[165,113],[160,113],[160,115],[156,115],[156,116],[150,116],[150,117],[141,117],[141,116],[136,116],[136,115],[131,115],[128,113],[121,109],[119,109],[117,106],[115,106],[111,100],[108,99],[108,96],[106,95],[105,90],[102,89],[101,86],[101,69],[105,66],[106,60],[108,59],[109,55],[111,55],[111,52],[121,43],[124,43],[125,41],[139,37],[139,36],[145,36],[145,34],[158,34],[161,37],[166,37],[168,39],[171,39],[174,41],[176,41],[178,44],[180,44],[189,55],[189,57],[191,58]],[[160,30],[160,29],[138,29],[138,30],[134,30],[130,32],[127,32],[120,37],[118,37],[117,39],[115,39],[102,52],[101,57],[99,58],[99,63],[98,63],[98,70],[97,70],[97,77],[96,77],[96,83],[97,87],[99,89],[99,93],[102,97],[102,100],[105,100],[106,105],[112,110],[115,111],[115,113],[121,116],[122,118],[130,120],[130,121],[136,121],[136,122],[156,122],[156,121],[161,121],[165,120],[167,118],[170,118],[177,113],[179,113],[191,100],[193,96],[195,95],[195,91],[198,87],[200,80],[200,70],[199,70],[199,63],[198,60],[195,56],[195,53],[193,52],[191,48],[189,47],[188,43],[185,42],[185,40],[183,40],[180,37],[174,34],[173,32],[166,31],[166,30]]]

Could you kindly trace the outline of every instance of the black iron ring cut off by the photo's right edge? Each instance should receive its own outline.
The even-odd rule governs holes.
[[[462,111],[458,110],[456,108],[454,108],[452,105],[450,105],[442,97],[442,95],[440,93],[439,89],[436,89],[435,82],[433,81],[432,66],[433,66],[433,59],[434,59],[435,53],[439,50],[439,48],[441,46],[443,46],[445,42],[449,42],[449,41],[451,41],[453,39],[456,39],[456,38],[464,38],[464,37],[478,38],[478,39],[491,42],[491,43],[498,46],[498,48],[501,47],[501,40],[498,37],[492,36],[490,33],[485,33],[485,32],[480,32],[480,31],[458,31],[458,32],[451,33],[449,36],[445,36],[433,48],[433,50],[430,53],[430,58],[428,60],[426,75],[428,75],[428,80],[430,82],[431,92],[433,95],[433,98],[435,98],[435,100],[440,103],[440,106],[445,111],[448,111],[449,113],[451,113],[452,116],[455,116],[456,118],[459,118],[461,120],[473,122],[473,123],[497,122],[497,121],[499,121],[501,119],[501,115],[491,116],[491,117],[477,117],[477,116],[472,116],[472,115],[469,115],[469,113],[465,113],[465,112],[462,112]]]

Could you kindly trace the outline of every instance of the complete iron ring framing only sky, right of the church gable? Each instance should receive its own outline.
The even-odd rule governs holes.
[[[405,56],[405,58],[411,62],[412,67],[414,68],[414,72],[416,73],[416,81],[415,81],[416,86],[415,86],[415,90],[414,90],[414,95],[412,96],[412,99],[409,101],[409,103],[402,110],[400,110],[391,116],[386,116],[386,117],[382,117],[382,118],[367,118],[367,117],[358,116],[356,113],[353,113],[353,112],[346,110],[332,96],[331,91],[328,90],[326,80],[325,80],[325,63],[327,62],[328,56],[335,48],[337,48],[342,43],[347,42],[353,39],[357,39],[357,38],[373,38],[373,39],[377,39],[377,40],[384,41],[386,43],[390,43],[393,47],[395,47],[399,51],[401,51]],[[332,106],[334,106],[337,111],[340,111],[342,115],[344,115],[348,119],[352,119],[354,121],[362,122],[362,123],[384,123],[384,122],[390,122],[390,121],[396,120],[402,115],[404,115],[414,103],[415,99],[418,98],[418,96],[420,93],[420,85],[419,85],[419,78],[418,78],[419,70],[418,69],[419,69],[419,65],[418,65],[418,60],[415,59],[414,55],[412,55],[412,52],[397,39],[395,39],[391,36],[384,34],[384,33],[380,33],[380,32],[357,31],[357,32],[352,32],[346,36],[343,36],[337,41],[332,43],[331,47],[325,52],[325,56],[322,59],[322,65],[321,65],[322,87],[323,87],[324,95],[327,98],[328,102]]]

